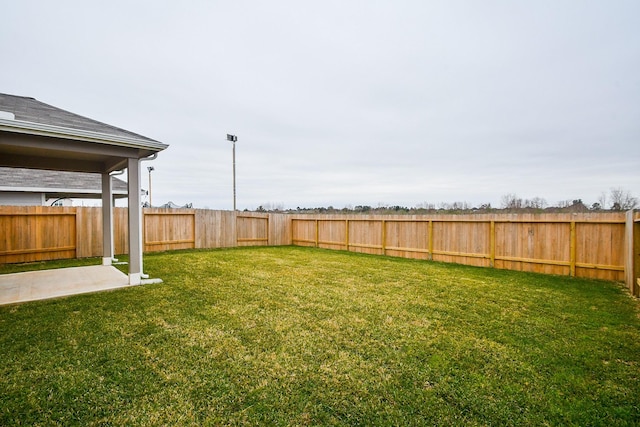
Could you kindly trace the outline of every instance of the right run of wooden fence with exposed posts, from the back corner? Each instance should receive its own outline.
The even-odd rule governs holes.
[[[635,214],[637,224],[637,214]],[[624,280],[625,215],[296,216],[291,241],[509,270]]]

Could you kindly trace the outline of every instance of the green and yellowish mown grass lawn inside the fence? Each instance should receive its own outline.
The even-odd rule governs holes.
[[[145,270],[164,283],[0,307],[0,425],[640,423],[617,283],[300,247]]]

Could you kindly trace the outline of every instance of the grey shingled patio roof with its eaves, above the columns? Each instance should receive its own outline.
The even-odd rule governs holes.
[[[105,173],[167,147],[34,98],[0,94],[0,166]]]

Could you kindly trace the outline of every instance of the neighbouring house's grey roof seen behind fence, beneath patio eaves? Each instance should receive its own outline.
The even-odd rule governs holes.
[[[127,183],[111,178],[113,195],[126,197]],[[0,191],[45,193],[47,198],[100,198],[102,176],[96,173],[0,167]]]

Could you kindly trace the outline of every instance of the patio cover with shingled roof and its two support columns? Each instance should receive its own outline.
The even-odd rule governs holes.
[[[70,113],[34,98],[0,94],[0,166],[88,172],[102,177],[103,266],[111,266],[114,260],[111,174],[127,170],[127,285],[144,284],[148,279],[142,261],[140,163],[155,159],[167,147],[153,139]],[[114,267],[110,268],[120,273]],[[32,277],[35,281],[37,276]],[[91,275],[85,277],[89,281]],[[120,283],[121,280],[115,282]]]

